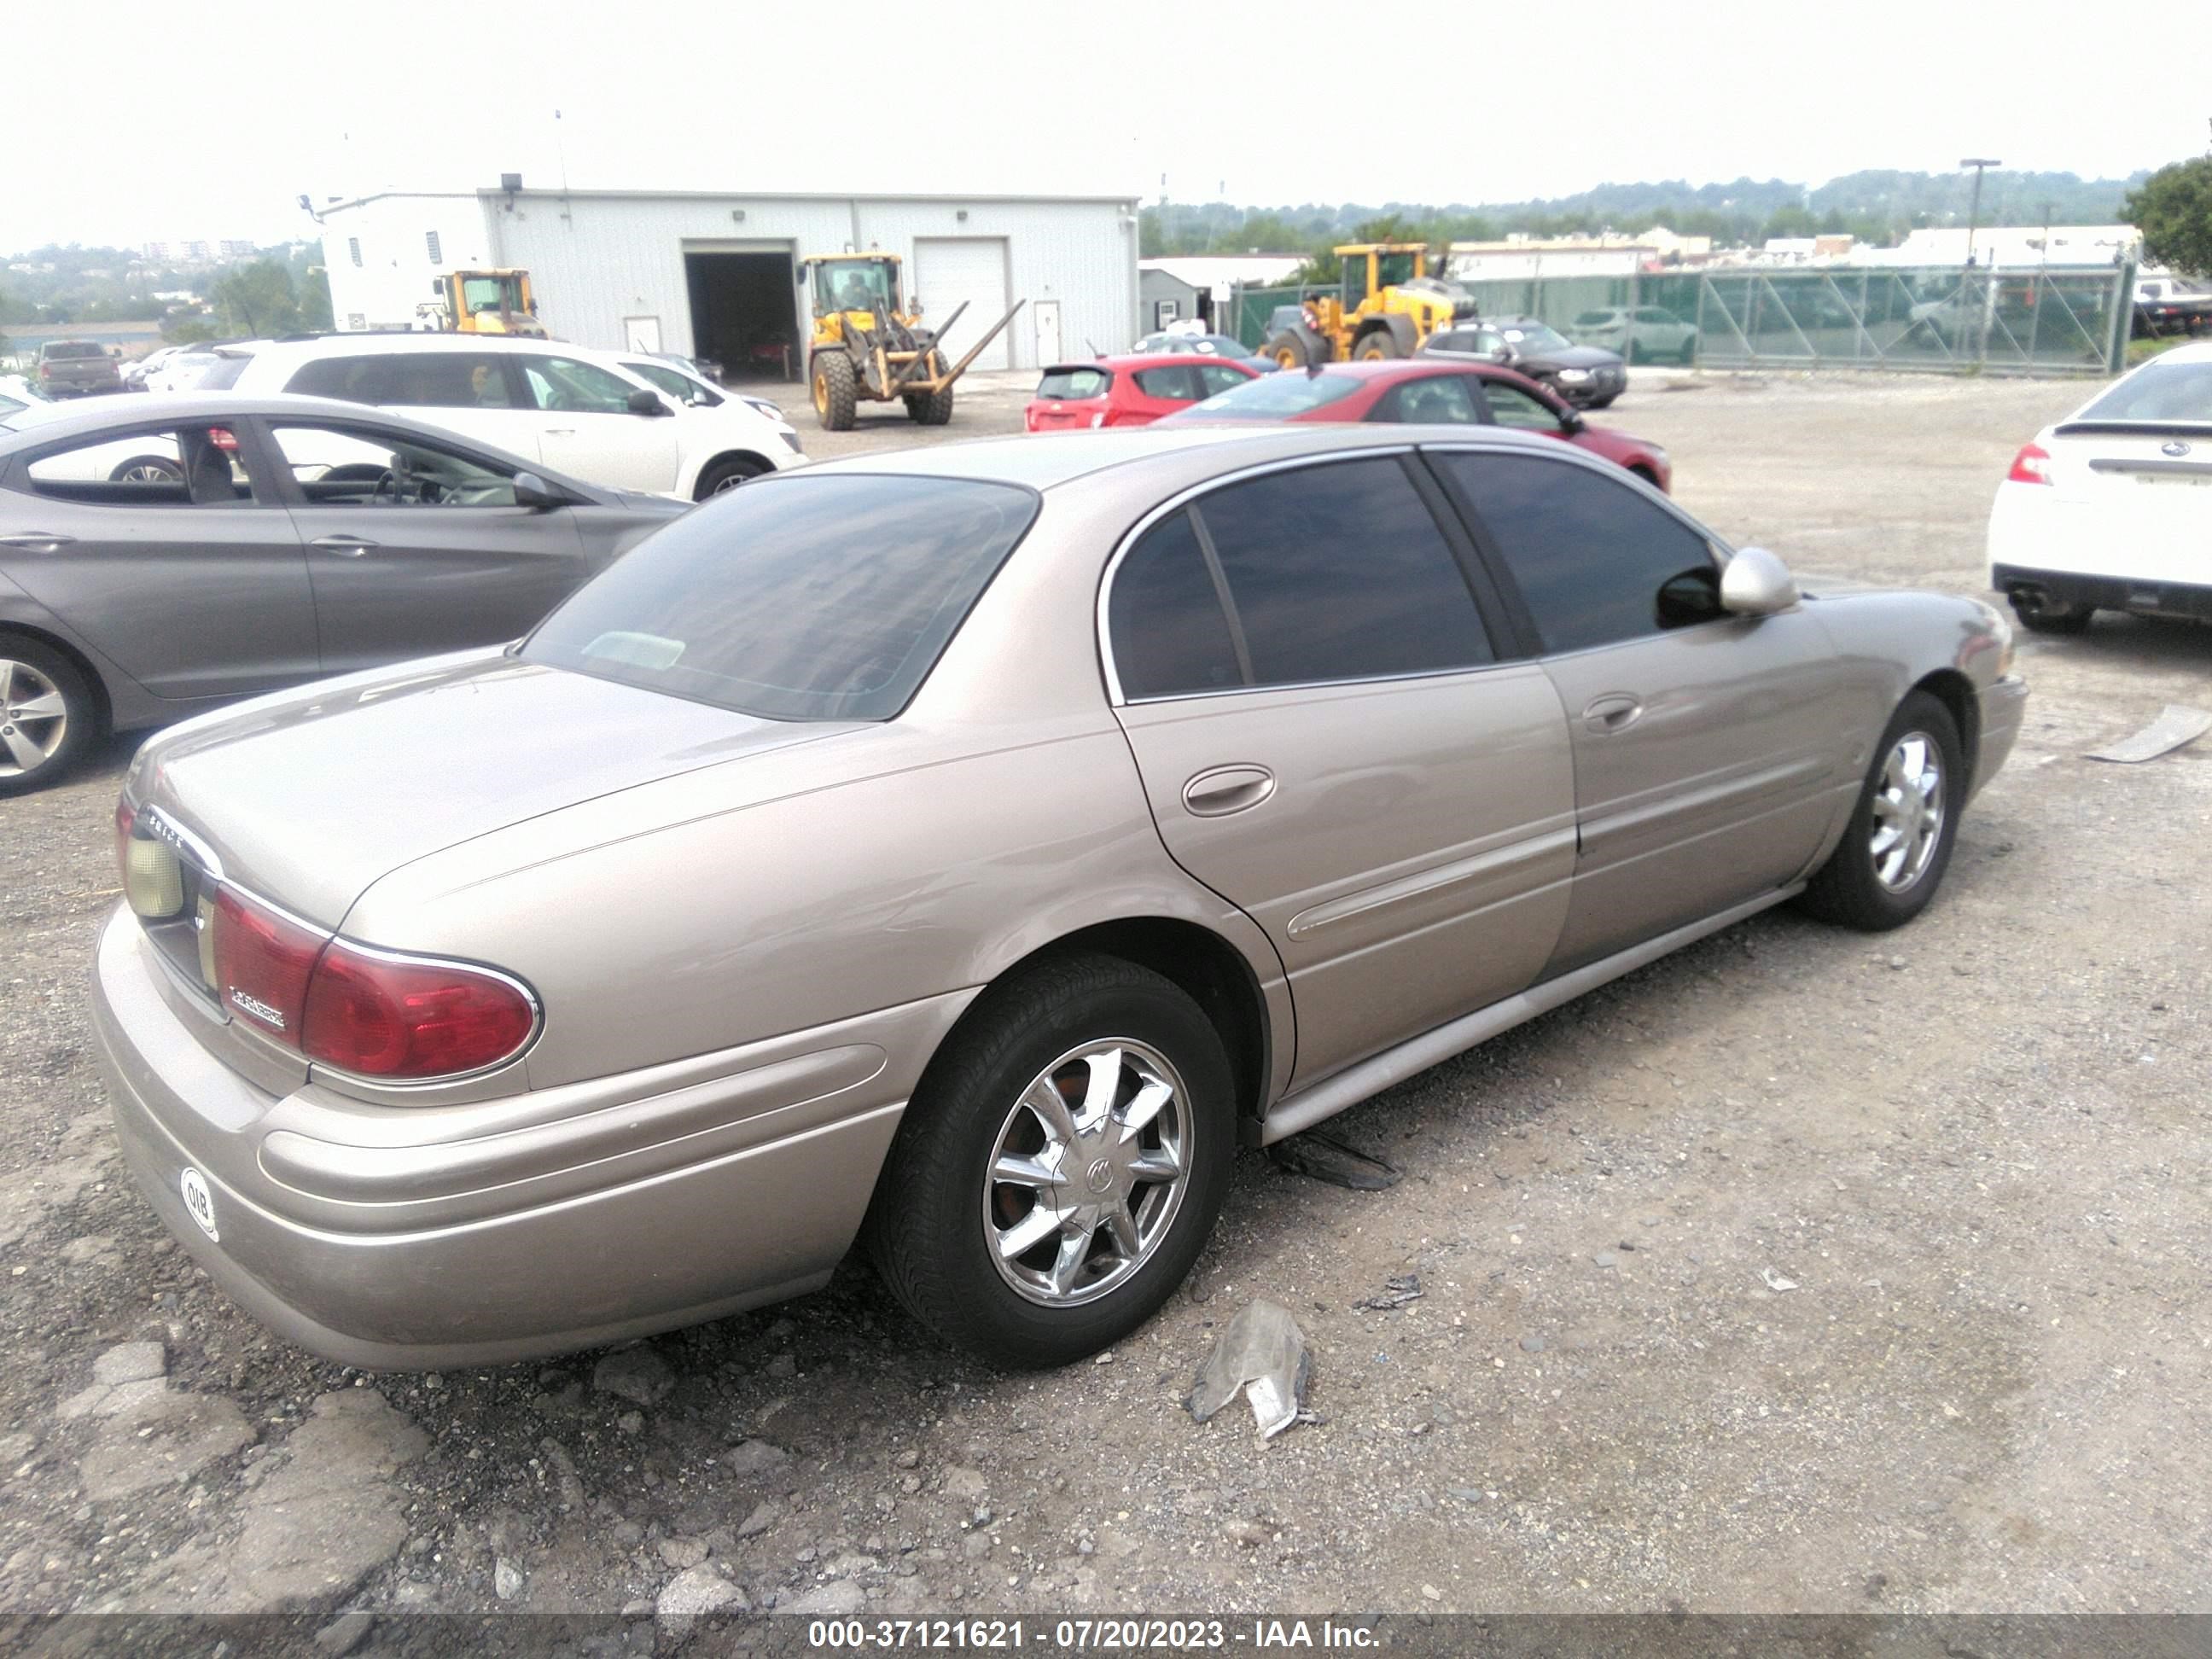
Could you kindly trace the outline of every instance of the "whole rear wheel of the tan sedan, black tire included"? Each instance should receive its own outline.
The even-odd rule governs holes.
[[[982,995],[885,1159],[869,1254],[907,1310],[1004,1367],[1121,1340],[1190,1272],[1228,1190],[1234,1082],[1179,987],[1075,956]]]

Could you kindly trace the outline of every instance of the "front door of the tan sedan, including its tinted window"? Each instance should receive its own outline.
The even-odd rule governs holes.
[[[1801,876],[1865,765],[1863,697],[1820,622],[1721,613],[1703,533],[1597,467],[1436,460],[1573,734],[1575,900],[1546,975]]]

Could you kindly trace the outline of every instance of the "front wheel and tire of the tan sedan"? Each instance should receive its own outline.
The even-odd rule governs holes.
[[[1966,759],[1951,710],[1911,692],[1882,732],[1843,841],[1798,902],[1825,922],[1887,933],[1929,907],[1966,805]]]

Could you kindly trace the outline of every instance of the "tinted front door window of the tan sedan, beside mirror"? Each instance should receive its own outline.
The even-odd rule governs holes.
[[[1544,650],[1659,633],[1659,591],[1690,571],[1712,575],[1697,531],[1588,467],[1540,456],[1438,460],[1504,555]]]

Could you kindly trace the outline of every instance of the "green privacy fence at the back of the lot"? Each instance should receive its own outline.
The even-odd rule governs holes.
[[[1484,316],[1537,316],[1635,363],[1714,369],[2117,374],[2132,265],[1971,270],[1832,265],[1462,283]],[[1232,332],[1259,349],[1296,288],[1239,290]]]

